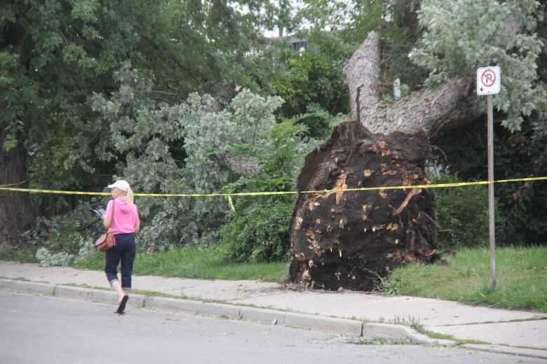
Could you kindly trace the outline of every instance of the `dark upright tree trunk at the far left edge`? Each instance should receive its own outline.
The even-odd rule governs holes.
[[[0,103],[0,115],[5,108],[6,104]],[[4,151],[5,124],[0,120],[0,186],[28,179],[27,152],[22,144],[8,152]],[[0,251],[18,246],[20,232],[29,228],[33,222],[34,215],[28,193],[0,190]]]

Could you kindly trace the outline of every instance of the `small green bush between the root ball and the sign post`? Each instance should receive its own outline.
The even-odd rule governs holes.
[[[443,174],[433,183],[459,183],[457,175]],[[439,244],[443,248],[472,248],[488,244],[488,189],[487,186],[465,186],[435,189]],[[495,211],[496,225],[503,225]],[[497,229],[497,237],[501,230]],[[501,239],[500,239],[501,240]]]

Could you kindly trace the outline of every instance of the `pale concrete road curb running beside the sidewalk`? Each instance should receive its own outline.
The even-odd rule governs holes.
[[[30,281],[14,281],[11,279],[0,279],[0,290],[93,302],[115,303],[117,300],[116,293],[107,290]],[[129,304],[134,307],[178,311],[206,316],[227,316],[245,321],[334,332],[341,335],[364,337],[365,339],[409,339],[416,344],[454,344],[450,340],[431,339],[407,326],[389,323],[363,323],[362,321],[348,318],[325,317],[291,311],[158,296],[131,295]]]

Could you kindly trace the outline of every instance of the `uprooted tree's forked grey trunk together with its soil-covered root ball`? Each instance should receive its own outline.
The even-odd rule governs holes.
[[[354,120],[306,157],[298,189],[408,186],[300,193],[290,221],[290,279],[312,288],[371,290],[393,267],[435,258],[428,136],[473,116],[467,78],[396,102],[381,100],[380,37],[370,32],[346,64]]]

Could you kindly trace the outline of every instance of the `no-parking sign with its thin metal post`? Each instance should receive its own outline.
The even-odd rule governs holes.
[[[496,232],[494,230],[494,106],[493,94],[499,93],[501,71],[499,67],[482,67],[477,70],[477,94],[487,95],[488,115],[488,232],[490,246],[490,288],[496,289]]]

